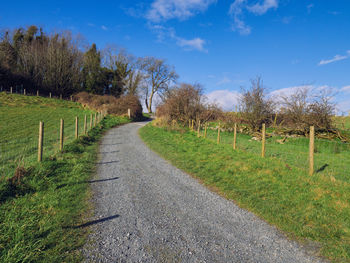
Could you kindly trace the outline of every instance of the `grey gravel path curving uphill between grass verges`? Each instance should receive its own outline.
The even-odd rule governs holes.
[[[144,124],[102,140],[86,262],[321,262],[152,152]]]

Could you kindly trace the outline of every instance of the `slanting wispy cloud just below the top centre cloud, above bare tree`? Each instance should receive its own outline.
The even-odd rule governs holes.
[[[173,28],[168,28],[163,25],[149,25],[149,28],[157,34],[159,42],[165,41],[165,39],[172,39],[176,45],[182,47],[186,51],[197,50],[207,53],[208,50],[205,48],[206,41],[199,37],[193,39],[186,39],[179,37]]]

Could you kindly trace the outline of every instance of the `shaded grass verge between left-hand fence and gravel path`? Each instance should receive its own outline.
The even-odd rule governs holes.
[[[81,262],[98,141],[107,129],[127,122],[108,116],[62,153],[2,178],[0,262]]]

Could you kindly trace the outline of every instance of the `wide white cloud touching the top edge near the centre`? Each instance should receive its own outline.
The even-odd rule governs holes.
[[[153,22],[177,18],[185,20],[205,11],[216,0],[155,0],[146,18]]]

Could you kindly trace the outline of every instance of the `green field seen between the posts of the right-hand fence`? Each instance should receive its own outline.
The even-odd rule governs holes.
[[[202,131],[203,132],[203,131]],[[233,142],[232,132],[221,132],[221,142],[231,144]],[[208,139],[217,139],[216,130],[208,130]],[[266,156],[280,159],[288,165],[308,170],[309,167],[309,139],[288,138],[284,144],[278,143],[282,137],[274,136],[266,140]],[[251,136],[237,134],[237,147],[246,152],[260,154],[261,142],[251,140]],[[319,173],[325,176],[333,176],[337,180],[350,182],[350,177],[345,171],[350,169],[350,144],[339,141],[315,140],[315,170],[322,170]],[[324,167],[324,169],[321,169]]]

